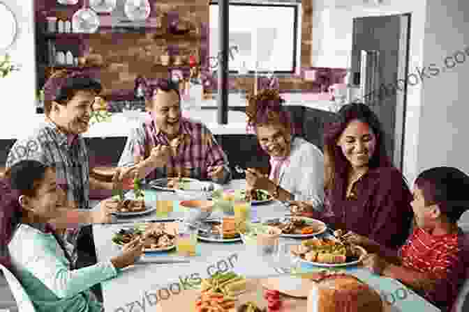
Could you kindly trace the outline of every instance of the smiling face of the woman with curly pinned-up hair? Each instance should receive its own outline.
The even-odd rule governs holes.
[[[269,156],[290,155],[291,135],[282,125],[260,125],[256,127],[256,133],[262,150]]]

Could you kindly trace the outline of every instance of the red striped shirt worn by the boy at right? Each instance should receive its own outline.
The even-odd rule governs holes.
[[[459,234],[434,236],[416,228],[401,248],[401,258],[403,266],[434,276],[437,284],[435,288],[425,290],[426,299],[440,309],[451,306],[458,294],[461,278],[458,275],[463,265]]]

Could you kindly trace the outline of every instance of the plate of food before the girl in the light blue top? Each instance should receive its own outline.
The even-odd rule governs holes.
[[[170,251],[176,248],[175,236],[171,233],[170,226],[165,223],[121,228],[112,235],[112,242],[122,247],[138,237],[145,240],[144,252]]]

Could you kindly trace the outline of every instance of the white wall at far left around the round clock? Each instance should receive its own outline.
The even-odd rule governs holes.
[[[33,0],[2,0],[13,10],[18,23],[17,39],[8,50],[12,61],[20,63],[19,72],[12,72],[0,78],[1,115],[0,131],[11,127],[28,127],[28,120],[34,118],[36,100],[36,69],[34,45]]]

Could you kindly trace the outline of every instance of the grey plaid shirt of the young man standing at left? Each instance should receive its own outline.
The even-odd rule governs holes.
[[[75,208],[89,209],[89,157],[84,139],[78,136],[69,143],[67,134],[52,122],[41,125],[26,139],[15,142],[8,153],[6,166],[21,160],[37,160],[56,169],[57,184],[66,190],[69,203]],[[80,229],[66,231],[65,239],[73,262],[77,260],[76,244]]]

